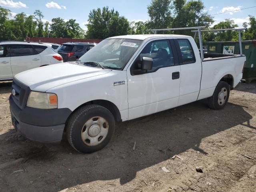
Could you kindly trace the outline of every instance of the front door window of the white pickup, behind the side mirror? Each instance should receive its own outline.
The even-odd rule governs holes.
[[[152,69],[148,70],[148,73],[155,72],[162,67],[174,65],[174,58],[169,40],[159,40],[148,43],[136,59],[135,68],[140,68],[143,57],[153,59]]]

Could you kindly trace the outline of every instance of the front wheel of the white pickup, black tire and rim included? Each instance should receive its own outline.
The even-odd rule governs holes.
[[[70,145],[81,153],[92,153],[104,148],[115,130],[113,114],[100,105],[79,108],[68,120],[67,138]]]

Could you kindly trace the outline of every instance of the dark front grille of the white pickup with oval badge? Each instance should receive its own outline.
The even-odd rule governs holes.
[[[16,79],[12,81],[12,99],[19,108],[24,109],[26,107],[29,94],[30,88],[28,86]]]

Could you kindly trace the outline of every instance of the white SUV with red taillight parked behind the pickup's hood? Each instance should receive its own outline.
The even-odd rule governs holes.
[[[0,80],[12,80],[22,71],[57,63],[63,63],[62,56],[49,44],[0,42]]]

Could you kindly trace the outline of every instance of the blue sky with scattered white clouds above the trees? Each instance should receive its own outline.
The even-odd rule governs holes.
[[[12,12],[9,18],[21,12],[31,15],[39,9],[44,15],[44,21],[51,21],[56,17],[65,21],[76,19],[81,28],[86,30],[84,24],[87,23],[92,9],[108,6],[117,10],[120,16],[126,17],[129,21],[146,21],[149,19],[147,6],[150,2],[151,0],[0,0],[0,6]],[[205,6],[204,12],[217,14],[214,15],[214,24],[230,18],[242,27],[243,22],[248,22],[248,15],[256,16],[256,7],[241,10],[256,6],[256,0],[202,0],[202,2]],[[234,12],[228,12],[233,10]]]

